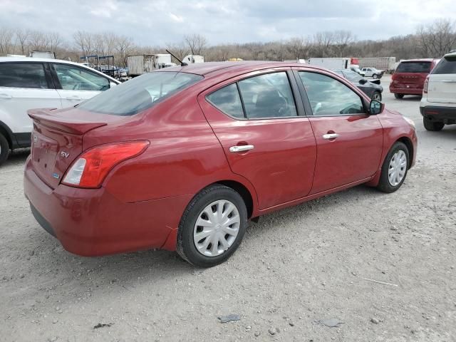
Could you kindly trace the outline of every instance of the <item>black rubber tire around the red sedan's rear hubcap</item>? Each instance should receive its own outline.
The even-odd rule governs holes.
[[[200,253],[193,241],[193,230],[195,223],[202,213],[203,209],[212,202],[224,199],[232,202],[239,212],[240,223],[239,232],[234,242],[227,250],[216,257],[207,257]],[[182,218],[180,219],[179,230],[177,232],[177,253],[190,262],[190,264],[199,267],[212,267],[226,261],[236,251],[239,244],[242,242],[245,231],[247,229],[247,207],[238,192],[231,187],[224,185],[211,185],[197,194],[190,204],[187,205]]]

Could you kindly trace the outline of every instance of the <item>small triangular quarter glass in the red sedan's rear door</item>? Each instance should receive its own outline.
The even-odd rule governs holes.
[[[237,119],[244,119],[241,98],[236,83],[223,87],[207,95],[207,100],[216,108]]]

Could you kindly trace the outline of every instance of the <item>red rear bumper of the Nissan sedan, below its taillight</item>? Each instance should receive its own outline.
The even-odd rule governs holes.
[[[192,195],[122,202],[103,187],[51,189],[26,162],[24,193],[33,216],[68,251],[97,256],[140,249],[175,250],[177,227]]]

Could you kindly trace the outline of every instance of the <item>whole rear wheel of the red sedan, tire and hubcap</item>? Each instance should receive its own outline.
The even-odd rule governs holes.
[[[247,207],[239,193],[212,185],[185,209],[177,232],[177,252],[195,266],[215,266],[231,257],[246,229]]]

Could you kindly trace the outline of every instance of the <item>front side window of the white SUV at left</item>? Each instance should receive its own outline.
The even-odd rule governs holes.
[[[103,91],[109,89],[108,78],[86,69],[66,64],[54,64],[53,67],[63,90]]]

